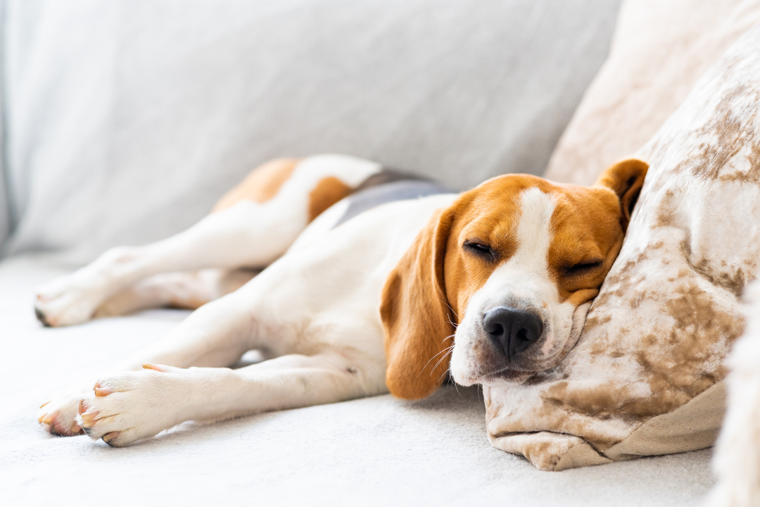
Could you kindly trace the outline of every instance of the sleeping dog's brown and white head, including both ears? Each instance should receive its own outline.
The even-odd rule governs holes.
[[[449,366],[461,385],[556,366],[620,251],[647,170],[625,160],[591,187],[499,176],[436,212],[382,293],[391,393],[423,398]]]

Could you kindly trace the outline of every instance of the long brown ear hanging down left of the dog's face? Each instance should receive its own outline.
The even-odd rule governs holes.
[[[443,285],[443,258],[453,215],[451,210],[433,214],[382,291],[385,383],[398,398],[432,394],[448,370],[454,325]]]

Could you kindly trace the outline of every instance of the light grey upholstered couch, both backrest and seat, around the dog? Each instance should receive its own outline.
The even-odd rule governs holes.
[[[458,189],[543,174],[619,3],[2,2],[0,502],[698,505],[709,450],[537,471],[489,444],[477,388],[184,423],[123,449],[34,420],[56,388],[187,315],[43,328],[36,285],[188,227],[271,157],[353,154]]]

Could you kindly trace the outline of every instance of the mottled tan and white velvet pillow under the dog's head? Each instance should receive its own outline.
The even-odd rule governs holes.
[[[578,344],[556,369],[483,389],[493,445],[543,470],[714,442],[760,252],[760,26],[636,155],[649,173]]]

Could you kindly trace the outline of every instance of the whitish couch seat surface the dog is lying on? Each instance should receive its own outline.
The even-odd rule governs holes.
[[[561,474],[489,445],[483,396],[446,385],[409,402],[390,395],[184,423],[128,448],[60,438],[36,423],[46,396],[146,347],[187,312],[156,310],[43,328],[35,287],[64,271],[0,263],[0,503],[81,505],[698,506],[714,482],[710,452]]]

